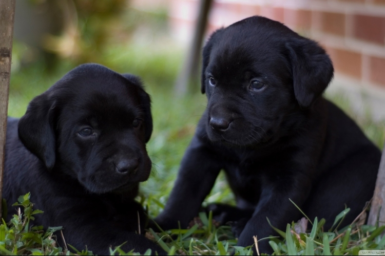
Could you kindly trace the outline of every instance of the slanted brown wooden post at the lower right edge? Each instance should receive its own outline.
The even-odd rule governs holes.
[[[368,224],[374,226],[377,224],[377,220],[378,226],[385,225],[385,146],[382,150],[381,163],[378,170],[372,205],[370,207]]]

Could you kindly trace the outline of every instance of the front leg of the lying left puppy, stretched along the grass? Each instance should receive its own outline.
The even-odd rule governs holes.
[[[72,201],[75,203],[80,202],[78,199],[73,199]],[[106,218],[103,205],[91,204],[86,201],[83,204],[67,206],[68,201],[62,200],[62,202],[62,207],[68,207],[68,210],[51,216],[51,224],[55,226],[59,226],[58,224],[63,225],[66,243],[78,250],[83,250],[87,246],[94,254],[108,255],[109,247],[114,249],[116,246],[123,244],[121,249],[126,252],[133,250],[143,254],[147,249],[151,249],[152,255],[156,255],[156,253],[158,255],[167,254],[156,243],[132,229],[127,229],[125,224],[128,222],[130,226],[138,225],[136,218],[129,218],[126,220],[126,223],[121,221],[119,226],[117,221]],[[64,203],[67,203],[67,205]],[[63,247],[64,241],[61,240],[61,236],[57,237],[59,238],[60,245]]]

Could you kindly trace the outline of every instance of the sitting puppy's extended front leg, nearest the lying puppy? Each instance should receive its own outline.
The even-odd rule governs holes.
[[[181,227],[186,228],[214,186],[221,170],[220,162],[210,145],[194,136],[183,156],[168,202],[155,222],[163,229],[171,229],[178,228],[179,221]]]

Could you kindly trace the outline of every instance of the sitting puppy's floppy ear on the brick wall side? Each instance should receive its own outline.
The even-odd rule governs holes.
[[[286,42],[293,71],[294,94],[300,106],[309,107],[328,87],[333,64],[317,42],[296,38]]]

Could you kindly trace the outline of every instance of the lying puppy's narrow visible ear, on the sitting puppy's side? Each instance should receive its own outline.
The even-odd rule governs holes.
[[[141,107],[144,110],[144,125],[145,125],[145,136],[146,143],[150,140],[152,134],[152,115],[151,115],[151,99],[150,95],[144,91],[142,82],[139,77],[131,74],[122,74],[126,79],[135,84],[138,88],[138,93],[140,97]]]

